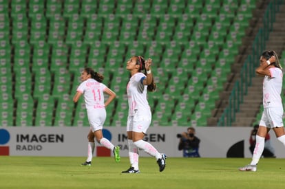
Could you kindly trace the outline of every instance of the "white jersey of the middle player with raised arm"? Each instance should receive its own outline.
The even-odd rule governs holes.
[[[136,110],[139,113],[150,111],[147,102],[147,85],[142,84],[145,74],[136,73],[131,76],[127,84],[127,98],[129,102],[129,116],[133,116]]]

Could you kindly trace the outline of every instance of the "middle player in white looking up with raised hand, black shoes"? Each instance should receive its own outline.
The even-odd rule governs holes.
[[[122,173],[140,173],[138,168],[138,148],[156,157],[160,172],[165,169],[166,155],[159,153],[154,146],[145,142],[143,137],[151,124],[151,110],[147,102],[147,91],[154,91],[156,85],[151,74],[151,59],[133,56],[127,61],[127,70],[131,78],[127,84],[129,115],[127,118],[127,137],[129,144],[129,162],[131,167]],[[141,71],[145,71],[142,73]]]

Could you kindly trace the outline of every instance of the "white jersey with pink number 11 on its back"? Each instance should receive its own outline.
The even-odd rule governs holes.
[[[106,85],[89,78],[78,86],[77,91],[83,93],[85,106],[94,108],[104,108],[104,94]]]

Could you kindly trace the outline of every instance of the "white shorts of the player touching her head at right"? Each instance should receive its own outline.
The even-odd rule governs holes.
[[[265,108],[260,120],[260,126],[266,126],[269,129],[283,126],[283,108],[271,107]]]

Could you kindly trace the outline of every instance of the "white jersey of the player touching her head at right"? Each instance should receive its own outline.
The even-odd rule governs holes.
[[[283,107],[281,92],[282,92],[282,70],[273,67],[269,69],[271,77],[264,76],[263,80],[263,106],[268,107]]]

